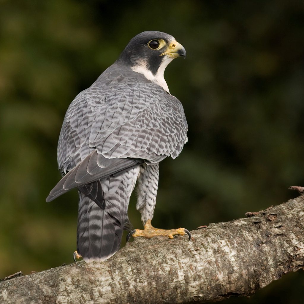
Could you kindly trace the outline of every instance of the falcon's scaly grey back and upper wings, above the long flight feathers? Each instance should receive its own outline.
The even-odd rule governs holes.
[[[83,160],[95,149],[106,158],[175,158],[187,130],[177,98],[116,63],[69,106],[58,143],[58,166],[66,173],[72,162],[78,164],[79,157]]]

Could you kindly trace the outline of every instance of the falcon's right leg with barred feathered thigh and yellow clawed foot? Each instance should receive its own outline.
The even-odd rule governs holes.
[[[131,236],[145,237],[150,239],[152,237],[163,236],[173,239],[175,235],[188,234],[189,240],[191,238],[190,232],[185,228],[178,229],[158,229],[151,225],[153,218],[154,207],[156,203],[157,187],[158,187],[159,169],[158,164],[140,166],[140,175],[138,181],[138,199],[136,209],[141,213],[141,220],[144,223],[144,229],[135,229],[128,233],[127,241]]]

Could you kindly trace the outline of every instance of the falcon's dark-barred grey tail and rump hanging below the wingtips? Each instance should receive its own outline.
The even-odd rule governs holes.
[[[119,250],[123,229],[130,226],[127,211],[138,173],[137,166],[99,180],[97,190],[86,185],[79,192],[77,251],[86,262],[105,261]]]

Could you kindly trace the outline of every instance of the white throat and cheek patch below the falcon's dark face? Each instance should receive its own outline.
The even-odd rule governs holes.
[[[135,65],[135,66],[133,66],[131,68],[132,68],[132,70],[134,72],[143,74],[148,80],[156,83],[157,85],[160,85],[165,91],[167,91],[168,93],[170,93],[168,85],[167,85],[167,82],[164,79],[164,71],[165,71],[165,68],[167,67],[167,65],[173,59],[174,58],[172,58],[172,57],[167,57],[166,56],[163,59],[163,61],[161,62],[161,65],[158,68],[157,73],[155,75],[153,75],[152,72],[147,69],[147,66],[146,66],[146,64],[144,62],[141,63],[141,64],[138,64],[138,65]]]

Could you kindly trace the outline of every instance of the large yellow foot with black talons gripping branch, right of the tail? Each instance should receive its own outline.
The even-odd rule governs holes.
[[[185,228],[178,228],[178,229],[158,229],[154,228],[151,225],[151,220],[149,219],[147,223],[144,225],[144,230],[135,229],[128,233],[127,235],[127,242],[130,240],[130,237],[145,237],[150,239],[151,237],[168,237],[169,239],[173,239],[174,235],[185,235],[188,234],[189,240],[191,238],[190,232]]]

